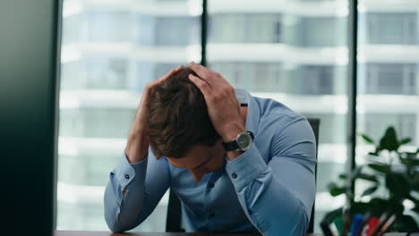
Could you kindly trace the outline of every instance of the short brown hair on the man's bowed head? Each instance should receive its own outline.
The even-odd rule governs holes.
[[[209,120],[207,105],[188,67],[150,91],[147,117],[150,146],[155,156],[180,158],[196,144],[213,146],[219,139]]]

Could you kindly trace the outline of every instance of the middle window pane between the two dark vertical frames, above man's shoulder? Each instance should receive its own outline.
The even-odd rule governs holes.
[[[329,12],[313,8],[308,1],[266,6],[249,2],[240,8],[209,1],[209,67],[253,96],[274,98],[297,113],[320,118],[320,170],[345,166],[347,155],[346,109],[342,108],[346,63],[335,59],[346,57],[338,48],[346,47],[346,15],[336,13],[347,9],[334,1],[324,3]],[[290,9],[311,9],[311,13],[295,14]],[[330,55],[323,54],[325,50]],[[336,156],[330,157],[331,153]],[[321,231],[319,221],[332,208],[324,204],[332,199],[326,192],[331,178],[323,174],[317,189],[315,232]]]

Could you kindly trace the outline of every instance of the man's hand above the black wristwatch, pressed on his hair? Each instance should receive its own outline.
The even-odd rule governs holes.
[[[235,89],[218,72],[189,63],[198,77],[190,74],[189,80],[201,90],[208,107],[209,119],[223,141],[236,138],[245,131],[244,120],[240,113],[240,103],[235,97]]]

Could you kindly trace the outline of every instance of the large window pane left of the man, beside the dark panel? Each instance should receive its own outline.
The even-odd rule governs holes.
[[[57,170],[59,230],[108,231],[103,194],[121,161],[144,86],[201,60],[188,1],[64,1]],[[139,5],[140,4],[140,5]],[[177,5],[173,8],[173,4]],[[177,10],[176,10],[177,9]],[[170,53],[167,53],[167,52]],[[167,195],[133,231],[164,232]]]

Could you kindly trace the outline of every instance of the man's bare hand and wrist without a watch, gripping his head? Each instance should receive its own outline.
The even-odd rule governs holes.
[[[167,78],[174,75],[176,72],[179,72],[181,69],[182,66],[179,66],[176,69],[167,72],[167,74],[165,74],[160,79],[151,81],[145,87],[125,147],[125,154],[128,157],[129,163],[140,162],[145,158],[145,156],[147,156],[147,152],[149,151],[150,140],[148,139],[147,135],[148,129],[146,124],[146,117],[149,113],[151,89],[153,89],[162,81],[167,80]]]

